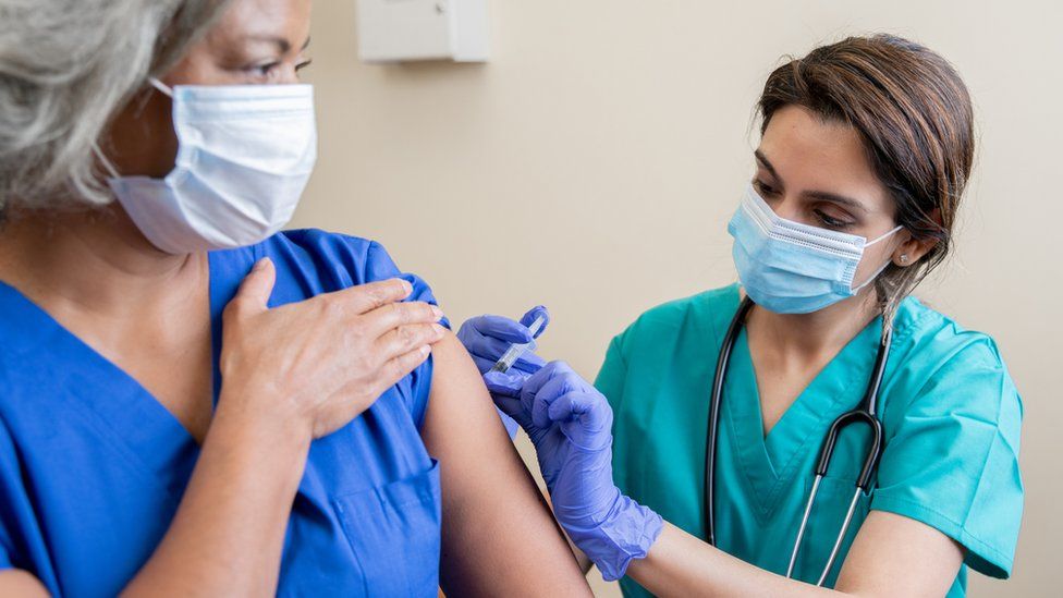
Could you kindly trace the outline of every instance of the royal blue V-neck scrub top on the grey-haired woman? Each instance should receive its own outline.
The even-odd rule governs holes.
[[[209,256],[215,400],[221,313],[261,257],[271,307],[400,276],[380,245],[305,230]],[[435,303],[413,283],[411,300]],[[166,534],[199,447],[136,380],[0,283],[0,569],[52,595],[113,596]],[[436,596],[437,464],[421,442],[431,361],[310,447],[278,594]]]

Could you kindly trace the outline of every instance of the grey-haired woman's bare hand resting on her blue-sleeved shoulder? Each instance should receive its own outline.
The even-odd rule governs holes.
[[[438,307],[400,303],[412,292],[404,280],[270,309],[274,279],[272,263],[260,260],[225,307],[219,408],[319,438],[362,414],[443,338]]]

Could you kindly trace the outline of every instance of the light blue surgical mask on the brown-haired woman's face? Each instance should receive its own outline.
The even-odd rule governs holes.
[[[855,295],[890,265],[854,288],[864,249],[901,229],[868,241],[786,220],[753,185],[728,224],[738,280],[757,305],[777,314],[808,314]]]

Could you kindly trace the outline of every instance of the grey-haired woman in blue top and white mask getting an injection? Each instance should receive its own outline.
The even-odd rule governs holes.
[[[0,594],[589,594],[424,281],[277,233],[309,12],[0,2]]]

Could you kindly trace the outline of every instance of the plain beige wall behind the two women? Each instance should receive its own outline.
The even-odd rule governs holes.
[[[782,54],[887,30],[951,59],[981,146],[957,253],[919,294],[997,338],[1026,404],[1014,581],[973,594],[1058,589],[1058,2],[494,0],[489,64],[402,66],[358,62],[354,3],[317,1],[321,157],[295,223],[381,241],[455,322],[549,305],[541,353],[588,377],[640,312],[734,280],[724,227]]]

